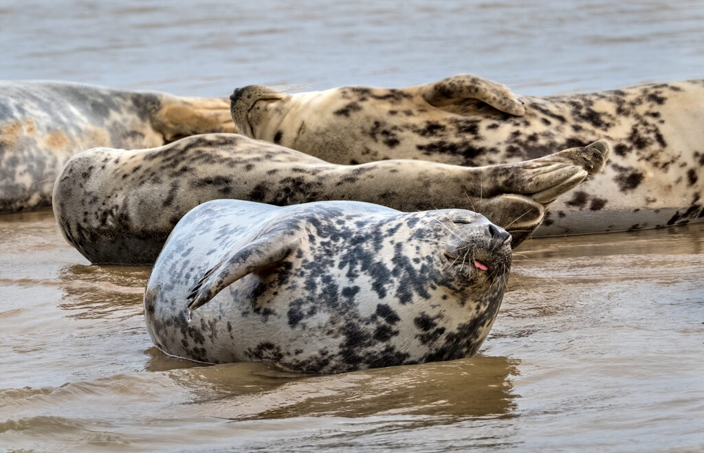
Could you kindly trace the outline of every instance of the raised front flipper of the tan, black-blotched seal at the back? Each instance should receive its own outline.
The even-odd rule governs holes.
[[[477,99],[511,115],[522,116],[526,112],[523,103],[508,87],[476,75],[453,75],[419,88],[425,101],[437,108]]]

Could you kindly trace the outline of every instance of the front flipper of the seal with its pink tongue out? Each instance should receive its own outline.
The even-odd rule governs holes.
[[[284,234],[265,234],[215,264],[187,295],[187,300],[190,300],[188,310],[196,310],[247,274],[284,260],[301,240],[294,236],[282,236]]]

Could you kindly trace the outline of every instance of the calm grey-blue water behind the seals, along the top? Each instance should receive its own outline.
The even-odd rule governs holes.
[[[698,0],[0,0],[0,78],[229,96],[472,72],[555,94],[704,77],[703,23]]]

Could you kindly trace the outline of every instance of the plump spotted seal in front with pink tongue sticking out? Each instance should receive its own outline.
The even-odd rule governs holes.
[[[159,349],[198,362],[339,373],[460,359],[494,323],[510,253],[506,231],[466,210],[215,200],[173,230],[144,317]]]

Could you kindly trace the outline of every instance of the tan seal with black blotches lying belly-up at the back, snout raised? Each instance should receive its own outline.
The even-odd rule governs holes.
[[[536,97],[457,75],[406,89],[255,85],[231,99],[242,134],[341,164],[491,165],[610,140],[610,165],[558,200],[535,236],[704,221],[704,80]]]

